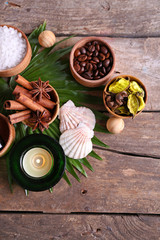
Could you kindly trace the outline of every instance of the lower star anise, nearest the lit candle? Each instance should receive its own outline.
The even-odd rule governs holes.
[[[40,112],[37,110],[35,113],[32,113],[32,117],[28,121],[34,124],[33,131],[39,128],[41,132],[43,132],[45,128],[47,129],[49,127],[48,122],[50,120],[50,117],[45,116],[45,111]]]

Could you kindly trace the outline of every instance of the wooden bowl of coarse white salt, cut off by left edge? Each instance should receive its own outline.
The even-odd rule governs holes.
[[[0,25],[0,77],[21,73],[30,63],[31,46],[18,28]]]

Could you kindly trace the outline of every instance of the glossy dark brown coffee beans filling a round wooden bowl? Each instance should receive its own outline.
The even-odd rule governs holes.
[[[109,49],[99,41],[86,43],[74,52],[74,68],[78,74],[89,80],[106,76],[113,65]]]

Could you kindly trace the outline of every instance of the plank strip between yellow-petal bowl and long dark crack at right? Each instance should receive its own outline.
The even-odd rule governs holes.
[[[96,132],[96,136],[111,150],[160,158],[160,114],[142,112],[135,119],[124,121],[125,128],[120,134]]]

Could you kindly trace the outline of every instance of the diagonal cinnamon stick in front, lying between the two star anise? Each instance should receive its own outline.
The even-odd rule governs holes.
[[[43,106],[41,106],[40,104],[36,103],[35,101],[33,101],[32,99],[30,99],[29,97],[25,96],[22,93],[18,93],[16,95],[16,100],[22,104],[24,104],[27,108],[31,109],[32,111],[40,111],[40,112],[44,112],[45,111],[45,116],[51,116],[51,113],[44,108]]]

